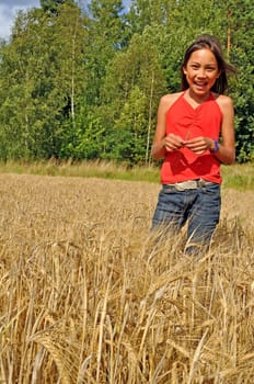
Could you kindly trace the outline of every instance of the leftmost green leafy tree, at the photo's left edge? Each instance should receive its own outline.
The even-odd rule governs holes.
[[[2,48],[1,54],[1,89],[0,113],[1,136],[5,147],[1,147],[2,158],[30,157],[31,149],[35,156],[38,147],[34,145],[39,125],[39,116],[36,111],[36,101],[33,91],[36,88],[34,70],[42,63],[35,58],[33,47],[41,45],[31,44],[30,36],[37,42],[35,10],[30,13],[20,12],[13,26],[11,44]],[[31,29],[27,31],[26,26]],[[33,132],[32,132],[33,131]],[[13,139],[14,138],[14,139]]]

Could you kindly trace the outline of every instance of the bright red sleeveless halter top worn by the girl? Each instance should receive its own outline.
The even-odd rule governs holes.
[[[184,93],[166,112],[166,135],[173,133],[183,139],[198,136],[218,139],[222,112],[213,95],[210,93],[205,102],[194,109],[184,98]],[[163,184],[199,178],[221,183],[220,162],[209,150],[196,155],[183,147],[173,153],[166,153],[161,168],[161,182]]]

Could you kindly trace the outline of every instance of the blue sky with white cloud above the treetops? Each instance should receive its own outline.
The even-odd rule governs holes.
[[[124,0],[126,7],[131,0]],[[85,0],[81,2],[86,2]],[[39,0],[0,0],[0,38],[8,38],[19,10],[39,7]]]

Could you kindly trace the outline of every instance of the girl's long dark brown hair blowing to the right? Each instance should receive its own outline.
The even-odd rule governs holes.
[[[182,91],[188,88],[186,75],[184,74],[184,67],[186,67],[190,55],[195,50],[204,49],[204,48],[210,49],[212,52],[218,64],[218,69],[220,70],[220,76],[216,80],[215,84],[212,86],[211,91],[222,94],[228,88],[227,74],[235,74],[236,70],[233,66],[226,63],[226,60],[223,59],[223,54],[222,54],[222,49],[219,41],[215,36],[210,36],[210,35],[203,35],[198,37],[192,45],[189,45],[189,47],[185,52],[184,60],[181,66]]]

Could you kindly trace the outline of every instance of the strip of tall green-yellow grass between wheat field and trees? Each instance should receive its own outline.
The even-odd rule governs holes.
[[[222,166],[223,187],[239,191],[254,190],[254,162]],[[0,162],[1,173],[104,178],[114,180],[160,182],[160,168],[129,168],[112,161],[8,161]]]

